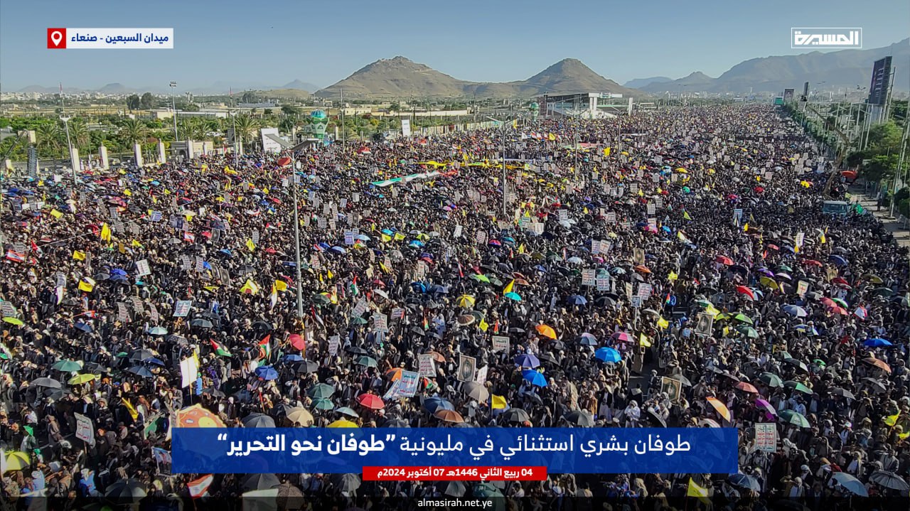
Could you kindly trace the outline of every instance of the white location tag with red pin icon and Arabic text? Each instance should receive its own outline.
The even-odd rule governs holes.
[[[170,50],[173,28],[48,28],[47,49]]]

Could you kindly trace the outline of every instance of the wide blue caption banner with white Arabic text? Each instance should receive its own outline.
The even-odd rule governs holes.
[[[178,474],[343,474],[363,466],[546,466],[551,474],[739,470],[736,428],[180,428]]]

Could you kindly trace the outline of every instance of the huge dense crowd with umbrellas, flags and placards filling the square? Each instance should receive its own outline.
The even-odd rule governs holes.
[[[849,201],[840,169],[771,105],[2,188],[10,506],[269,488],[339,509],[471,495],[670,508],[693,485],[731,505],[907,496],[907,250],[861,206],[824,212]],[[404,372],[420,374],[413,396],[390,392]],[[461,485],[170,471],[174,427],[339,421],[734,426],[741,474]],[[765,426],[757,440],[765,424],[772,446]]]

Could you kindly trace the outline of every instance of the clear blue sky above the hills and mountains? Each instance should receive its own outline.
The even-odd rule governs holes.
[[[899,0],[38,0],[0,2],[0,87],[180,90],[216,82],[330,85],[404,55],[474,81],[525,79],[562,58],[600,75],[693,71],[791,55],[791,26],[861,26],[864,48],[907,37]],[[47,27],[174,27],[173,50],[48,50]]]

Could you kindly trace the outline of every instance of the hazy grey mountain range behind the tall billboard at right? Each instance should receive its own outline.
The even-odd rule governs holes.
[[[784,88],[801,90],[804,82],[809,82],[813,89],[826,91],[855,89],[857,85],[869,85],[873,63],[886,55],[893,57],[895,91],[910,90],[910,69],[900,65],[910,59],[910,38],[867,50],[815,51],[753,58],[733,65],[717,78],[693,73],[671,82],[643,85],[642,90],[655,94],[687,91],[743,93],[749,90],[780,94]]]

